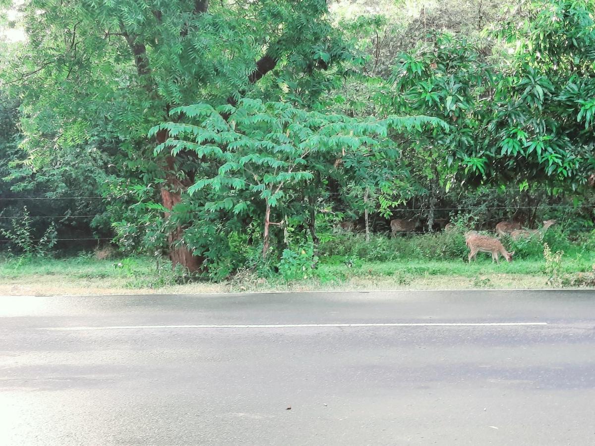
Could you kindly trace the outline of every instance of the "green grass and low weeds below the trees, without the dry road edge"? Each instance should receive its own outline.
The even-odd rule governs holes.
[[[460,233],[394,238],[372,235],[369,243],[362,235],[340,234],[318,249],[311,243],[288,247],[280,262],[271,259],[256,262],[218,283],[236,291],[250,291],[267,287],[283,289],[300,283],[340,287],[353,280],[361,284],[368,282],[370,286],[381,281],[408,287],[420,280],[431,281],[433,277],[440,278],[437,280],[459,277],[471,287],[492,288],[496,286],[496,277],[525,275],[541,278],[544,285],[546,281],[553,286],[595,285],[593,234],[569,238],[551,231],[543,241],[538,238],[513,241],[508,237],[501,240],[506,249],[515,250],[515,256],[513,262],[497,265],[487,253],[480,253],[472,263],[466,262],[468,249]],[[200,279],[183,268],[172,269],[166,259],[148,256],[110,258],[93,252],[64,258],[0,256],[2,283],[45,275],[63,281],[105,281],[130,289],[164,289]]]

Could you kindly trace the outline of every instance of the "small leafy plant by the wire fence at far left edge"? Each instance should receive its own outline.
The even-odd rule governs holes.
[[[24,257],[44,257],[49,250],[57,243],[57,231],[54,222],[51,222],[45,230],[42,237],[35,238],[35,232],[32,228],[32,219],[27,210],[23,208],[23,218],[12,220],[12,230],[0,229],[0,234],[12,241],[23,253]]]

